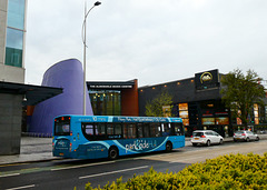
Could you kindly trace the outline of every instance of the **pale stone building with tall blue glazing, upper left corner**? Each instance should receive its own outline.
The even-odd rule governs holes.
[[[0,0],[0,81],[24,83],[27,0]]]

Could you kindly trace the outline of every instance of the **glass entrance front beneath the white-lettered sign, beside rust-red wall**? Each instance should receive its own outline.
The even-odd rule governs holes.
[[[89,90],[95,116],[120,116],[121,96],[119,90]]]

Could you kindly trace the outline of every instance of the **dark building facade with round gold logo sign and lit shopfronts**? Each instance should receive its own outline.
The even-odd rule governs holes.
[[[218,70],[211,70],[185,80],[141,87],[138,90],[139,113],[146,116],[146,103],[167,91],[174,103],[162,109],[170,110],[174,117],[182,118],[187,136],[197,129],[215,130],[224,137],[233,136],[241,123],[238,118],[233,118],[221,101],[221,76]],[[254,106],[251,126],[266,123],[266,108]]]

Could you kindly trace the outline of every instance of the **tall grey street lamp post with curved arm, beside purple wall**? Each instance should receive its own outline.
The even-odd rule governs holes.
[[[82,36],[82,42],[83,42],[83,116],[86,116],[86,97],[87,97],[87,83],[86,83],[86,49],[87,49],[87,44],[86,44],[86,20],[88,14],[90,13],[90,11],[97,7],[100,6],[101,2],[97,1],[93,3],[93,6],[91,7],[91,9],[89,9],[89,11],[87,11],[87,3],[85,1],[85,19],[83,19],[83,23],[82,23],[82,31],[83,31],[83,36]]]

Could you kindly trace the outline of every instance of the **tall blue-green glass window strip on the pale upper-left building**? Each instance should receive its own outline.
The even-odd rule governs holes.
[[[22,67],[24,6],[24,0],[8,1],[8,29],[4,61],[7,66]]]

